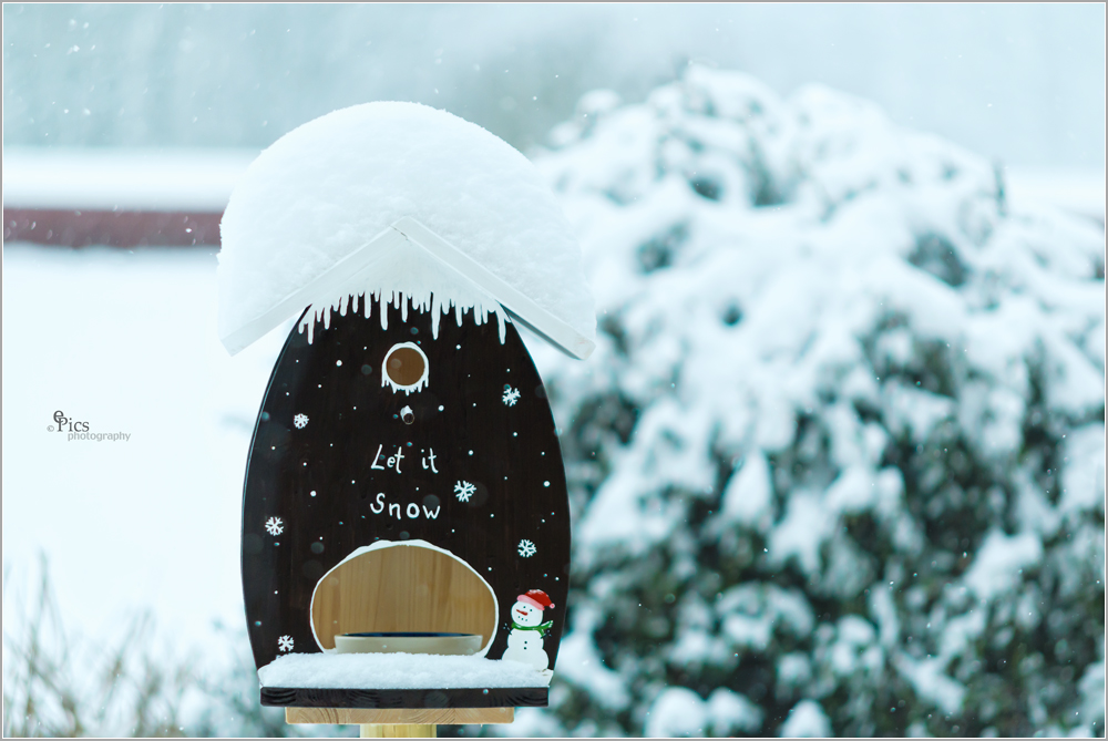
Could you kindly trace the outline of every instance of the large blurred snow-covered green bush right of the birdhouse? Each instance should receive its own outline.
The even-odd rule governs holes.
[[[700,68],[589,94],[538,165],[602,331],[538,350],[572,632],[511,730],[1102,734],[1102,227]]]

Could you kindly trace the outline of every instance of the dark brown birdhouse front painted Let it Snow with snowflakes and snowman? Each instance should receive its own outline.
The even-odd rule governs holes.
[[[542,380],[511,322],[502,341],[494,316],[451,312],[435,336],[429,312],[387,310],[387,328],[378,306],[332,312],[310,343],[294,329],[274,369],[243,504],[255,661],[408,631],[553,669],[570,519]],[[514,707],[546,688],[263,687],[263,702]]]

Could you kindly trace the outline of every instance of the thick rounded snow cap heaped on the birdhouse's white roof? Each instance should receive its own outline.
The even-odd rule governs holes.
[[[500,302],[510,305],[495,290],[402,238],[375,241],[406,217],[472,258],[491,282],[502,280],[575,332],[595,337],[581,248],[531,162],[445,111],[377,102],[289,132],[235,188],[220,227],[224,344],[237,352],[308,303],[319,316],[359,294],[367,316],[375,299],[411,298],[433,312],[435,327],[452,307],[459,321],[473,309],[478,321],[492,311],[503,322]],[[366,255],[370,243],[369,253],[389,254]],[[371,267],[346,276],[347,264],[336,266],[355,255]],[[306,287],[321,282],[331,288],[297,305]]]

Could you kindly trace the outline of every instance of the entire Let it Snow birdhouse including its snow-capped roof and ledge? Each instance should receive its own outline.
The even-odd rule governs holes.
[[[351,164],[341,146],[346,135],[356,154],[380,163],[389,155],[373,147],[402,151],[419,134],[430,174],[378,172],[368,193],[362,181],[375,171]],[[459,138],[469,144],[461,162]],[[449,146],[437,148],[442,141]],[[545,706],[565,628],[570,516],[556,424],[516,328],[574,357],[592,350],[592,315],[558,310],[576,301],[591,312],[564,217],[519,153],[423,106],[341,111],[270,151],[232,198],[220,257],[220,300],[249,298],[240,301],[249,311],[235,305],[222,327],[228,348],[300,311],[265,391],[243,501],[243,594],[260,701],[288,708],[290,720],[294,709],[332,713],[315,722],[370,722],[342,709],[389,722],[381,711]],[[314,159],[295,156],[305,151]],[[325,165],[337,171],[325,177],[311,168],[327,152],[335,157]],[[494,185],[482,191],[490,167]],[[295,203],[259,205],[281,193],[276,169]],[[348,171],[352,185],[336,187],[335,172]],[[421,187],[435,177],[458,181],[458,191]],[[375,197],[383,212],[375,218],[388,224],[365,239],[376,226],[359,219]],[[349,244],[266,223],[304,199],[319,200],[327,228]],[[547,235],[531,254],[511,234],[535,234],[534,224],[520,226],[520,210],[537,213]],[[442,226],[462,213],[480,225],[471,225],[476,237]],[[551,234],[563,253],[572,246],[572,260],[548,251]],[[320,243],[332,259],[319,258]],[[252,263],[252,249],[276,253],[278,266]],[[544,250],[557,258],[553,269]],[[563,289],[548,290],[567,265]],[[465,722],[456,712],[434,718]]]

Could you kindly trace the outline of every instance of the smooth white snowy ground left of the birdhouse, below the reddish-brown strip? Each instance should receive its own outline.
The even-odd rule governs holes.
[[[237,628],[244,466],[287,329],[227,356],[213,251],[3,256],[6,626],[41,550],[81,632],[146,608],[177,648]],[[55,411],[130,438],[68,441]]]

